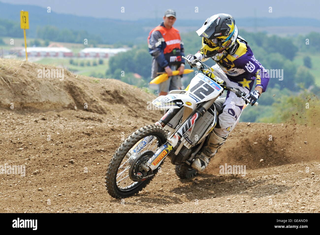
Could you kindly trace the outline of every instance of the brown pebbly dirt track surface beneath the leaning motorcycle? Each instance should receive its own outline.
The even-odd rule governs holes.
[[[146,110],[152,96],[142,97],[138,88],[111,79],[101,79],[102,85],[87,80],[79,83],[92,89],[88,93],[98,91],[92,112],[79,110],[80,105],[41,111],[34,102],[25,111],[19,105],[9,109],[10,100],[2,103],[0,165],[25,165],[26,176],[0,174],[0,212],[320,212],[320,129],[286,124],[239,123],[203,174],[180,180],[166,161],[140,194],[111,198],[104,175],[120,139],[160,113]],[[117,86],[124,87],[116,94],[122,94],[121,103],[112,100],[115,93],[104,93]],[[71,97],[69,107],[83,102]],[[145,115],[130,116],[130,102]],[[225,163],[246,165],[246,175],[219,174]]]

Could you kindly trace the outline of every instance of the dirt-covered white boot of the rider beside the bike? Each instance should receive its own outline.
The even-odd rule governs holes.
[[[197,154],[192,167],[199,172],[204,171],[208,166],[210,159],[216,154],[218,149],[224,144],[228,135],[225,137],[218,136],[214,131],[211,132],[207,145],[204,146],[200,154]]]

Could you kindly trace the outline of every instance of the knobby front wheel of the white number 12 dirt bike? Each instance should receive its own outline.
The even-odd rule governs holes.
[[[137,146],[146,137],[148,143],[138,152],[132,154],[132,151],[136,151]],[[143,158],[152,157],[156,150],[166,142],[166,139],[167,131],[164,128],[157,125],[148,125],[134,131],[120,144],[110,160],[105,177],[106,189],[111,197],[130,197],[148,185],[158,172],[158,169],[152,172],[154,174],[152,177],[144,181],[133,181],[130,178],[130,168],[132,163],[135,162],[134,156],[140,154],[140,157]]]

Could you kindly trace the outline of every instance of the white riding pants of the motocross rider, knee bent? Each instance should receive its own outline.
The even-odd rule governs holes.
[[[249,90],[242,87],[241,84],[230,81],[218,64],[215,64],[212,68],[214,69],[213,74],[226,81],[227,86],[238,88],[245,93],[249,92]],[[218,116],[219,125],[213,129],[219,137],[227,137],[227,135],[235,128],[239,122],[244,105],[245,101],[242,98],[237,97],[233,92],[227,92],[226,101],[223,104],[223,111]]]

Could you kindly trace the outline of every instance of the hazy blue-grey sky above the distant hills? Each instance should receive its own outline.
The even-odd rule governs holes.
[[[36,5],[52,12],[69,13],[79,16],[137,20],[140,18],[160,18],[168,8],[175,9],[177,19],[204,20],[215,13],[229,13],[234,17],[306,17],[320,19],[320,0],[0,0],[11,4]],[[124,7],[124,13],[121,13]],[[198,7],[198,13],[195,8]],[[269,13],[272,7],[272,13]],[[0,9],[1,12],[1,9]]]

